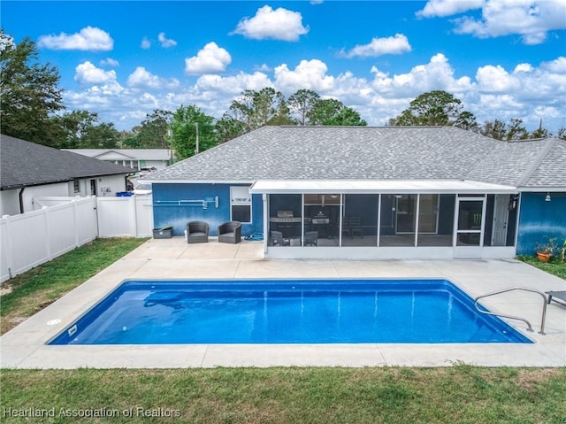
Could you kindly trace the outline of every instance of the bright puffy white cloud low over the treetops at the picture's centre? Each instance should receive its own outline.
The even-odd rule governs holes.
[[[333,88],[334,78],[326,74],[328,67],[321,60],[302,60],[301,63],[289,70],[286,64],[277,66],[274,70],[275,84],[285,92],[293,93],[298,89],[312,89],[327,92]]]

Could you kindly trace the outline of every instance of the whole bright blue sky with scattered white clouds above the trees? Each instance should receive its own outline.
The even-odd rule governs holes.
[[[245,89],[312,89],[385,125],[452,93],[478,122],[566,127],[565,0],[2,1],[2,27],[57,66],[67,110],[119,129]]]

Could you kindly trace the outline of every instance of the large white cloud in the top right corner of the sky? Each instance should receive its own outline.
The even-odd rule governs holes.
[[[566,28],[564,17],[563,0],[491,0],[482,7],[481,19],[455,19],[455,33],[479,38],[517,34],[525,44],[539,44],[549,31]]]

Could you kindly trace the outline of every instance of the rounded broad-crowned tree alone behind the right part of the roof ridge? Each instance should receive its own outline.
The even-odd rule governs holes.
[[[413,99],[400,116],[390,119],[393,126],[477,127],[473,113],[463,111],[462,102],[441,90],[429,91]]]

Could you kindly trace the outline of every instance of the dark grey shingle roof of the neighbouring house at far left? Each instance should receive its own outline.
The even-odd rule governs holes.
[[[133,173],[134,169],[0,135],[0,189]]]

